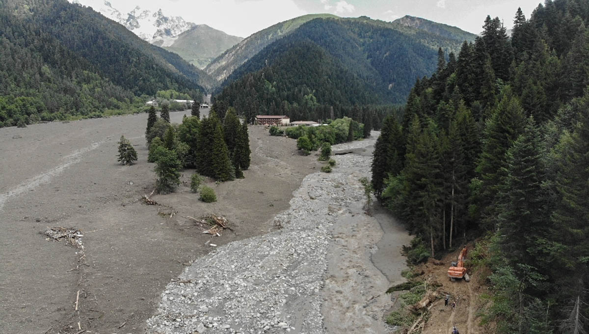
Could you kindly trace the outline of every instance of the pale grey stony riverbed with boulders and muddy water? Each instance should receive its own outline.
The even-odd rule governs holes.
[[[353,143],[353,148],[372,147],[376,137]],[[334,145],[333,150],[348,148],[350,144]],[[362,211],[365,195],[358,181],[369,176],[371,158],[368,154],[346,154],[335,159],[332,173],[304,178],[293,193],[290,208],[274,217],[273,232],[218,247],[170,282],[157,312],[147,320],[147,332],[331,333],[330,327],[336,328],[339,320],[365,326],[362,332],[385,332],[380,318],[383,308],[391,306],[386,305],[391,298],[380,289],[386,289],[388,281],[370,263],[382,231]],[[350,226],[338,229],[337,224]],[[366,242],[345,240],[346,244],[359,244],[358,249],[350,250],[357,256],[346,256],[346,249],[337,246],[345,238],[334,235],[342,229],[353,230],[362,239],[369,234]],[[339,253],[332,254],[334,250]],[[345,263],[337,258],[341,256],[356,262]],[[338,267],[335,259],[346,267]],[[355,278],[338,280],[348,269],[360,275],[357,286]],[[329,290],[341,295],[343,289],[346,296],[351,295],[349,300],[334,300],[330,307],[332,296],[325,289],[328,281]],[[364,305],[356,307],[357,302]],[[370,309],[375,302],[379,307]],[[330,319],[325,319],[326,315]],[[368,325],[355,323],[362,317],[369,318]],[[358,327],[348,331],[355,329]]]

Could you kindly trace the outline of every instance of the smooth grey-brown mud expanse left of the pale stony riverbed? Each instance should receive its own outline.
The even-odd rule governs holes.
[[[143,332],[170,279],[212,248],[213,237],[186,216],[227,217],[234,232],[210,241],[219,245],[266,233],[318,170],[316,156],[299,156],[293,140],[250,127],[246,178],[207,181],[217,203],[190,193],[187,170],[176,193],[152,197],[163,206],[146,206],[139,199],[154,185],[146,123],[140,114],[0,129],[0,332],[75,333],[78,322],[92,333]],[[121,134],[138,152],[133,166],[117,164]],[[52,226],[82,230],[85,264],[79,250],[39,234]]]

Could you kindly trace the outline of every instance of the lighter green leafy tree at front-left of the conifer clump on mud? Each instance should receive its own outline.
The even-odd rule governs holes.
[[[180,173],[178,170],[182,167],[176,152],[168,150],[166,147],[159,146],[155,148],[155,189],[160,194],[171,193],[180,184]]]

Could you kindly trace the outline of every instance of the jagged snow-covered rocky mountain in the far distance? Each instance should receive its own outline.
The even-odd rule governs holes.
[[[194,23],[186,22],[180,16],[164,15],[161,8],[153,10],[135,6],[131,11],[124,12],[107,0],[70,0],[70,2],[91,6],[95,11],[122,24],[145,41],[175,38],[195,26]]]

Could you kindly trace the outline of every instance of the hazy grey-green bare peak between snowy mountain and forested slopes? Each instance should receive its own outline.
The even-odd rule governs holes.
[[[151,43],[177,53],[198,68],[204,68],[241,40],[242,37],[227,35],[208,25],[199,24],[174,38],[155,38]]]

